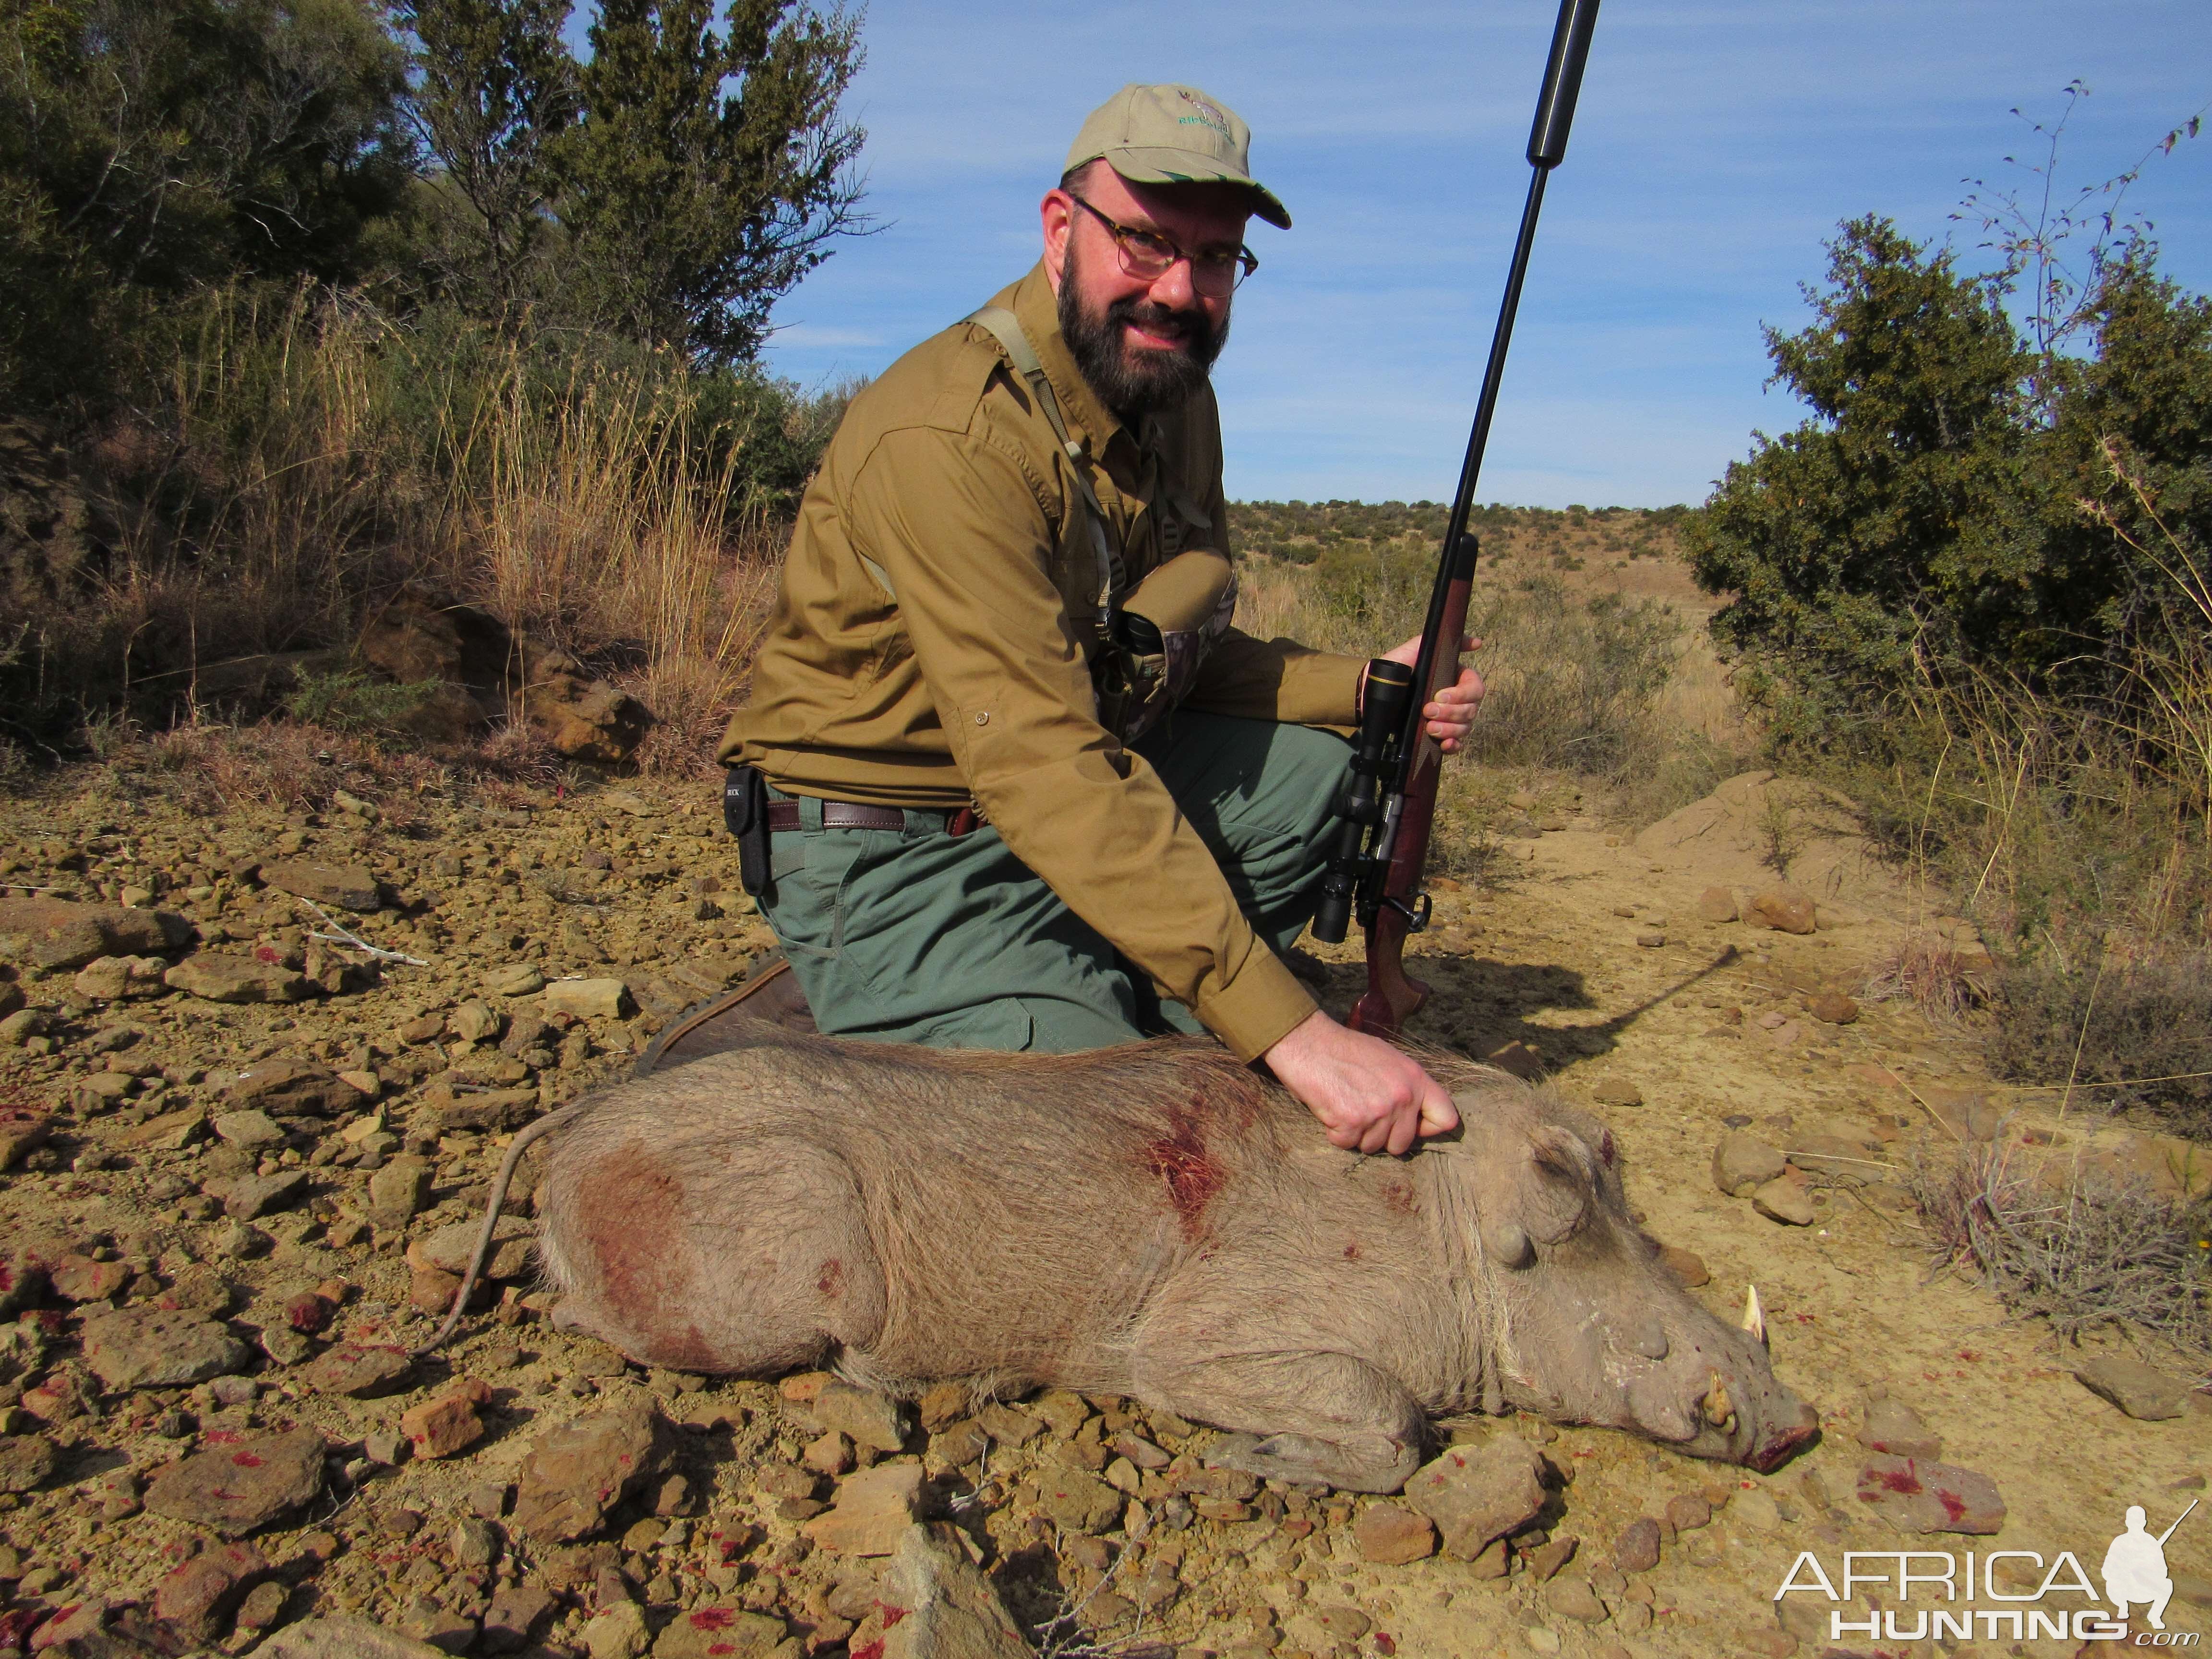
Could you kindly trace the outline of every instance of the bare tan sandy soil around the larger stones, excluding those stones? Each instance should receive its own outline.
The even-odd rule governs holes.
[[[77,787],[91,783],[100,787]],[[1750,898],[1776,885],[1774,869],[1761,863],[1776,823],[1770,787],[1803,825],[1792,836],[1792,878],[1818,905],[1812,936],[1699,918],[1712,887]],[[283,1303],[303,1285],[343,1296],[330,1336],[420,1338],[427,1321],[409,1307],[405,1245],[478,1212],[504,1144],[500,1133],[440,1137],[427,1126],[425,1093],[442,1077],[449,1093],[460,1082],[535,1086],[542,1104],[573,1097],[619,1075],[668,1009],[739,975],[768,940],[734,894],[734,856],[708,814],[697,785],[624,785],[542,799],[529,812],[425,803],[405,827],[341,812],[310,821],[261,810],[206,816],[148,799],[124,805],[97,779],[0,805],[0,880],[18,883],[18,894],[62,887],[95,898],[139,887],[192,918],[204,936],[226,929],[223,949],[283,953],[312,945],[303,927],[314,929],[314,918],[283,894],[257,889],[239,867],[279,849],[358,860],[398,900],[398,909],[356,918],[361,936],[427,962],[385,964],[367,989],[285,1006],[184,995],[100,1004],[77,993],[69,973],[22,971],[29,1002],[55,1015],[53,1051],[35,1053],[38,1042],[0,1048],[0,1099],[31,1113],[62,1110],[53,1144],[0,1177],[0,1243],[124,1263],[137,1276],[115,1298],[124,1307],[161,1294],[192,1265],[215,1267],[237,1285],[230,1318],[248,1340],[281,1325]],[[1104,1413],[1108,1438],[1133,1429],[1168,1451],[1192,1453],[1203,1453],[1208,1440],[1206,1429],[1119,1402],[1075,1402],[1064,1425],[1020,1449],[993,1449],[982,1471],[969,1471],[987,1484],[960,1513],[1013,1610],[1037,1619],[1062,1597],[1082,1599],[1119,1557],[1086,1619],[1108,1615],[1097,1639],[1124,1650],[1166,1644],[1186,1655],[1272,1650],[1279,1659],[1812,1655],[1832,1646],[1936,1652],[1933,1644],[1902,1639],[1847,1635],[1832,1644],[1827,1601],[1790,1597],[1781,1617],[1774,1590],[1805,1551],[1838,1586],[1847,1551],[1889,1553],[1891,1579],[1896,1551],[1991,1548],[2039,1553],[2044,1564],[2073,1551],[2095,1575],[2128,1504],[2143,1504],[2157,1531],[2201,1493],[2212,1416],[2192,1407],[2172,1420],[2139,1422],[2088,1394],[2073,1369],[2099,1349],[2059,1349],[2037,1327],[2006,1321],[1986,1292],[1938,1272],[1905,1188],[1916,1155],[1951,1155],[1953,1126],[1973,1117],[1978,1097],[2015,1110],[2006,1135],[2042,1141],[2024,1146],[2022,1157],[2086,1157],[2170,1179],[2161,1170],[2172,1168],[2179,1148],[2101,1121],[2079,1099],[1995,1091],[1980,1071],[1973,1033],[1931,1026],[1909,1004],[1863,1002],[1854,1024],[1820,1022],[1803,1006],[1825,989],[1860,989],[1909,929],[1958,933],[1962,925],[1929,916],[1847,836],[1818,834],[1827,818],[1812,794],[1763,776],[1739,779],[1637,838],[1608,830],[1566,794],[1537,803],[1531,821],[1548,827],[1509,843],[1511,878],[1502,889],[1438,896],[1436,927],[1418,940],[1418,971],[1436,995],[1413,1035],[1475,1055],[1520,1044],[1571,1099],[1599,1110],[1624,1146],[1630,1197],[1650,1230],[1694,1252],[1710,1272],[1697,1294],[1734,1318],[1756,1285],[1776,1369],[1818,1402],[1825,1440],[1759,1478],[1610,1431],[1524,1418],[1460,1429],[1469,1440],[1533,1438],[1571,1475],[1557,1513],[1546,1517],[1551,1540],[1579,1540],[1566,1566],[1540,1582],[1528,1564],[1533,1548],[1522,1548],[1509,1577],[1482,1579],[1475,1566],[1447,1557],[1402,1566],[1363,1559],[1354,1524],[1371,1500],[1270,1493],[1230,1506],[1223,1520],[1152,1526],[1139,1542],[1126,1528],[1102,1540],[1057,1528],[1037,1513],[1040,1475],[1055,1458],[1082,1462],[1097,1453],[1095,1413]],[[1971,938],[1962,945],[1973,949]],[[1329,993],[1343,1006],[1358,982],[1356,953],[1318,956],[1334,958]],[[471,1044],[438,1029],[471,1000],[518,1015],[520,1000],[487,989],[518,964],[544,978],[622,978],[646,1013],[582,1020],[520,1057],[502,1055],[495,1035]],[[119,1026],[139,1035],[113,1046],[102,1033]],[[358,1073],[380,1099],[365,1093],[356,1110],[294,1135],[290,1150],[265,1150],[270,1170],[305,1168],[310,1194],[239,1228],[210,1214],[199,1194],[215,1157],[206,1139],[161,1150],[135,1144],[133,1130],[179,1110],[221,1113],[223,1079],[261,1057]],[[95,1102],[86,1082],[117,1077],[124,1062],[144,1073],[133,1093]],[[361,1130],[372,1113],[383,1113],[394,1155],[405,1146],[436,1166],[429,1208],[405,1230],[363,1221],[372,1172],[356,1168],[365,1141],[345,1133]],[[1807,1137],[1856,1139],[1869,1181],[1823,1186],[1827,1177],[1816,1177],[1812,1225],[1770,1221],[1714,1186],[1714,1141],[1732,1126],[1807,1157]],[[1834,1150],[1834,1141],[1820,1146]],[[606,1590],[604,1575],[595,1575],[613,1566],[655,1624],[721,1597],[787,1619],[779,1652],[867,1648],[867,1626],[854,1630],[825,1613],[830,1586],[849,1579],[854,1564],[807,1553],[787,1506],[779,1506],[770,1471],[794,1464],[816,1425],[803,1405],[770,1387],[639,1374],[611,1349],[551,1329],[529,1301],[511,1298],[504,1318],[476,1318],[445,1356],[416,1369],[407,1389],[385,1398],[347,1400],[301,1385],[299,1347],[312,1352],[319,1343],[292,1347],[292,1365],[257,1356],[254,1398],[232,1387],[239,1398],[226,1402],[210,1385],[104,1394],[73,1347],[84,1316],[97,1312],[97,1303],[49,1296],[42,1312],[27,1314],[42,1340],[9,1349],[13,1363],[0,1391],[9,1420],[0,1427],[44,1436],[60,1451],[49,1480],[0,1498],[9,1608],[44,1613],[88,1597],[111,1606],[146,1601],[161,1573],[206,1540],[186,1522],[139,1511],[146,1480],[210,1444],[210,1436],[310,1422],[332,1447],[330,1484],[310,1509],[257,1535],[285,1586],[279,1626],[358,1610],[398,1628],[442,1630],[458,1646],[476,1639],[469,1621],[502,1584],[549,1584],[564,1601],[538,1639],[580,1652],[595,1597]],[[2146,1356],[2179,1369],[2174,1356]],[[380,1440],[400,1413],[460,1376],[491,1385],[487,1438],[449,1460],[383,1462],[389,1447]],[[53,1407],[53,1389],[40,1391],[53,1378],[77,1385],[73,1409]],[[672,1418],[699,1425],[681,1436],[695,1495],[679,1506],[690,1513],[675,1528],[666,1517],[655,1522],[653,1504],[639,1500],[615,1513],[591,1559],[513,1537],[491,1564],[460,1553],[456,1522],[498,1515],[509,1500],[502,1489],[546,1427],[637,1389],[659,1398]],[[1867,1462],[1856,1431],[1869,1391],[1918,1411],[1942,1438],[1944,1462],[1995,1480],[2006,1506],[2002,1533],[1905,1535],[1856,1500]],[[2203,1396],[2192,1400],[2201,1405]],[[53,1416],[40,1418],[31,1405]],[[1077,1431],[1086,1416],[1093,1427]],[[933,1489],[969,1491],[960,1467],[940,1451],[936,1440],[920,1451],[938,1478]],[[1670,1535],[1655,1568],[1615,1571],[1621,1531],[1639,1515],[1663,1515],[1679,1495],[1703,1495],[1714,1520]],[[2166,1624],[2199,1630],[2212,1621],[2212,1515],[2181,1526],[2168,1562],[2181,1595]],[[1871,1571],[1885,1568],[1863,1557],[1860,1573]],[[1851,1615],[1858,1619],[1869,1617],[1863,1586]],[[1139,1599],[1150,1604],[1141,1619]],[[1905,1615],[1905,1630],[1929,1606],[1927,1593],[1902,1606],[1893,1593],[1876,1590],[1876,1599]],[[2006,1604],[1975,1597],[1973,1606]],[[2053,1593],[2015,1606],[2070,1610],[2086,1601]],[[1604,1617],[1573,1617],[1593,1608]],[[1060,1630],[1062,1646],[1071,1632]],[[223,1646],[237,1652],[257,1639],[234,1630]],[[2048,1639],[2015,1646],[2008,1630],[1944,1644],[1969,1655],[2077,1648]]]

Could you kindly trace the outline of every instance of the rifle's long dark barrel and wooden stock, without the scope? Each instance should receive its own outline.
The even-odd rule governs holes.
[[[1467,604],[1475,582],[1475,538],[1467,533],[1467,518],[1475,504],[1482,451],[1491,440],[1491,420],[1498,414],[1498,387],[1504,380],[1506,347],[1513,341],[1513,316],[1520,310],[1520,290],[1528,274],[1528,252],[1535,248],[1535,221],[1544,208],[1544,179],[1566,157],[1566,135],[1575,119],[1582,66],[1590,53],[1595,24],[1597,0],[1559,0],[1559,20],[1553,27],[1551,58],[1544,66],[1544,91],[1537,95],[1535,122],[1528,128],[1528,199],[1522,206],[1520,234],[1513,239],[1506,294],[1498,307],[1498,330],[1491,334],[1491,356],[1482,369],[1482,396],[1475,400],[1475,425],[1467,436],[1460,487],[1451,498],[1444,549],[1436,564],[1429,615],[1420,630],[1420,657],[1413,666],[1418,695],[1411,699],[1411,710],[1398,734],[1389,805],[1374,832],[1369,869],[1358,883],[1360,927],[1367,933],[1367,991],[1352,1006],[1352,1029],[1380,1037],[1398,1035],[1398,1029],[1429,998],[1429,987],[1405,971],[1405,938],[1429,922],[1429,896],[1422,891],[1420,878],[1429,863],[1436,785],[1444,768],[1444,752],[1429,737],[1422,710],[1438,690],[1460,677],[1460,641],[1467,637]],[[1380,869],[1374,867],[1376,863]]]

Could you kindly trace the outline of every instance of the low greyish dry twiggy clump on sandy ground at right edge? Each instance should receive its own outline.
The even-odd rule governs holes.
[[[1913,1197],[1942,1259],[2013,1314],[2068,1340],[2115,1325],[2212,1349],[2205,1230],[2190,1206],[2002,1139],[1918,1157]]]

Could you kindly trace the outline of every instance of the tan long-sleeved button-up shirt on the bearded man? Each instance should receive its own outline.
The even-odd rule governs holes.
[[[1099,726],[1099,564],[1075,480],[1084,465],[1128,584],[1190,546],[1228,553],[1212,389],[1133,434],[1077,372],[1042,265],[993,305],[1022,321],[1086,460],[982,327],[898,358],[854,398],[799,507],[721,759],[787,794],[973,803],[1068,909],[1252,1060],[1314,1000],[1254,938],[1152,768]],[[1230,630],[1186,708],[1347,726],[1358,670]]]

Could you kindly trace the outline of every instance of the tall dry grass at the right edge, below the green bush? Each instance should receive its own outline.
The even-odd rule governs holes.
[[[1916,880],[1953,896],[2004,962],[1995,984],[1971,987],[1995,1004],[2002,1075],[2115,1086],[2110,1099],[2203,1133],[2212,580],[2170,533],[2137,551],[2170,591],[2126,664],[2135,695],[2068,701],[1991,672],[1924,668],[1887,721],[1887,768],[1838,781]],[[1936,960],[1900,964],[1900,975],[1938,1006],[1962,995],[1944,989],[1958,975]]]

